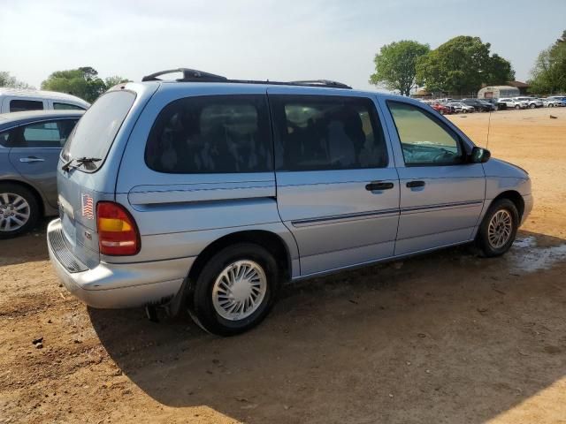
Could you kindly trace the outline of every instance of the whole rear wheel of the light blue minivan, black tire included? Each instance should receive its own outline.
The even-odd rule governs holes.
[[[245,266],[250,267],[248,271],[244,268]],[[254,267],[258,267],[258,269]],[[256,292],[252,292],[254,289],[250,289],[251,285],[249,284],[241,285],[234,292],[231,292],[230,289],[226,290],[226,287],[234,288],[234,284],[226,284],[231,275],[230,269],[237,269],[236,272],[243,269],[241,272],[244,275],[252,272],[251,269],[256,269],[255,284],[258,284],[256,286],[258,288],[255,289]],[[223,274],[225,274],[224,278],[222,277]],[[241,334],[256,327],[269,314],[275,304],[281,285],[280,274],[277,261],[264,247],[251,243],[228,246],[210,258],[199,276],[196,277],[194,288],[188,293],[187,297],[188,312],[198,325],[212,334],[218,336]],[[257,283],[258,281],[260,283]],[[262,281],[264,283],[260,285]],[[237,278],[236,282],[238,282]],[[226,295],[221,294],[222,292]],[[249,299],[248,302],[251,301],[250,296],[256,295],[255,299],[261,298],[261,300],[259,300],[257,306],[246,303],[245,305],[249,305],[248,313],[243,309],[245,306],[242,306],[240,302],[239,305],[241,306],[236,307],[236,309],[242,308],[240,314],[244,314],[244,316],[238,319],[234,316],[235,313],[228,310],[233,305],[233,303],[229,303],[233,300],[231,300],[232,298],[228,299],[228,295]],[[226,303],[228,303],[228,306],[226,306]]]

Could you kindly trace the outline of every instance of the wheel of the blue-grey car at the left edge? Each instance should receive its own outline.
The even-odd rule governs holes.
[[[0,239],[11,239],[30,231],[39,215],[37,199],[28,188],[0,183]]]

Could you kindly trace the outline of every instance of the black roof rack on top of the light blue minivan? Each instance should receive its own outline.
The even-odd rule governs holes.
[[[333,87],[333,88],[348,88],[352,87],[338,81],[330,79],[306,79],[299,81],[258,81],[255,79],[227,79],[221,75],[216,75],[210,72],[197,71],[195,69],[177,68],[167,71],[155,72],[142,78],[142,81],[160,81],[158,78],[168,73],[182,72],[183,78],[175,79],[178,82],[231,82],[241,84],[270,84],[274,86],[305,86],[305,87]]]

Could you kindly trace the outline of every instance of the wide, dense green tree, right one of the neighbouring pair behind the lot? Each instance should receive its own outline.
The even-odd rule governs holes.
[[[490,56],[489,42],[479,37],[457,36],[417,61],[417,81],[428,91],[468,94],[482,83],[501,84],[515,78],[509,61]]]

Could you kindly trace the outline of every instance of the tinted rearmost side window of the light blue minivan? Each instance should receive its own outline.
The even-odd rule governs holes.
[[[169,103],[151,128],[145,162],[152,170],[180,174],[272,170],[265,95],[210,95]]]

